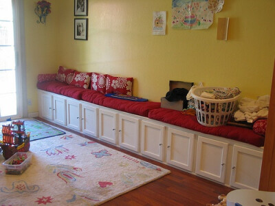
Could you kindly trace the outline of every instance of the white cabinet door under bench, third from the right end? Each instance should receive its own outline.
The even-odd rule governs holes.
[[[185,170],[192,170],[195,135],[168,128],[167,162]]]

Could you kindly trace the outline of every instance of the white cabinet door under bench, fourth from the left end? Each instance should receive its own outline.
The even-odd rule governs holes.
[[[82,104],[83,133],[98,137],[98,108],[89,104]]]

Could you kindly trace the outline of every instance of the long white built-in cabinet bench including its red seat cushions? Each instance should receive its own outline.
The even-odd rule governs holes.
[[[120,100],[53,80],[37,88],[43,119],[230,187],[259,187],[264,138],[251,129],[202,126],[159,102]]]

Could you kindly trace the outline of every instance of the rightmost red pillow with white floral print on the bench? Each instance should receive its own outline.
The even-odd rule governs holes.
[[[114,77],[107,75],[106,93],[132,95],[133,78]]]

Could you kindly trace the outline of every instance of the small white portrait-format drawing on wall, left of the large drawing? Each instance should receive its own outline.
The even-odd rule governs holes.
[[[153,35],[165,35],[166,12],[153,12]]]

